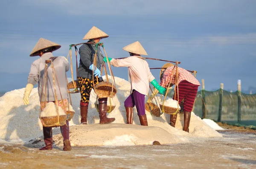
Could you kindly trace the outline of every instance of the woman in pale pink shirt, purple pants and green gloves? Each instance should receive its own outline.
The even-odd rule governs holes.
[[[145,114],[145,95],[148,95],[148,83],[150,82],[162,94],[166,93],[166,89],[158,85],[149,70],[148,63],[140,56],[148,54],[142,45],[140,45],[139,41],[125,46],[123,50],[128,51],[130,57],[125,59],[108,59],[110,64],[115,67],[128,67],[131,79],[131,95],[125,100],[127,124],[132,124],[133,107],[136,106],[140,124],[142,126],[148,126],[147,116]],[[105,57],[103,61],[107,62],[107,58]]]

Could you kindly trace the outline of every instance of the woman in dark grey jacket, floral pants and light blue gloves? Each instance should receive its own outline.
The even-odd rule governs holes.
[[[78,82],[81,92],[81,101],[80,101],[80,113],[81,113],[81,124],[87,124],[87,113],[88,105],[90,101],[90,92],[94,85],[102,82],[103,79],[100,75],[101,66],[103,63],[104,56],[99,46],[97,47],[97,64],[93,65],[94,55],[96,52],[96,43],[99,43],[100,39],[107,38],[108,34],[101,31],[99,28],[93,26],[93,28],[88,31],[84,36],[83,40],[89,39],[88,42],[91,44],[83,44],[79,48],[80,53],[80,63],[78,68]],[[94,73],[93,73],[94,68]],[[93,76],[98,76],[99,80],[97,81]],[[107,101],[108,98],[100,98],[99,101],[99,123],[108,124],[115,121],[115,118],[107,118]]]

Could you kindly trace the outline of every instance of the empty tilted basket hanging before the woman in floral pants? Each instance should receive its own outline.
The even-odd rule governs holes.
[[[94,92],[99,98],[107,98],[107,97],[114,97],[116,95],[116,87],[113,86],[112,92],[112,83],[110,82],[99,82],[95,86]]]

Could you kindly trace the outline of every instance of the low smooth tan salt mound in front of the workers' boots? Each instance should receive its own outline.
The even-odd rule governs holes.
[[[76,125],[71,126],[70,142],[72,146],[131,146],[189,142],[183,136],[173,135],[160,127],[132,124]],[[75,131],[75,132],[74,132]],[[54,132],[59,133],[57,130]],[[61,134],[53,136],[57,146],[63,146]],[[35,140],[38,142],[37,140]],[[31,141],[33,142],[33,141]],[[44,145],[41,141],[38,146]]]

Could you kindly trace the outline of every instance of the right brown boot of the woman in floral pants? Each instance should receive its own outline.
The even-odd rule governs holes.
[[[107,101],[108,98],[98,99],[99,101],[99,124],[108,124],[115,121],[115,118],[107,118]]]

